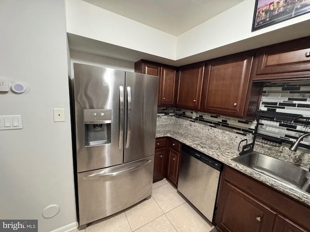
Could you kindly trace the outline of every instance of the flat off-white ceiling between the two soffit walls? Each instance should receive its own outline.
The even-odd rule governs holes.
[[[179,36],[244,0],[84,0]]]

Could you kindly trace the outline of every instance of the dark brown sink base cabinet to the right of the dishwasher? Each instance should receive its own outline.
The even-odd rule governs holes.
[[[214,219],[221,232],[310,232],[310,206],[228,166]]]

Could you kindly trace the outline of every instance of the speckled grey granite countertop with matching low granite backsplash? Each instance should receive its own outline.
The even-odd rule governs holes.
[[[239,142],[246,137],[229,131],[204,126],[175,117],[158,118],[156,126],[156,138],[172,137],[202,153],[244,173],[248,176],[275,188],[294,199],[310,205],[310,194],[296,190],[290,185],[283,184],[260,172],[252,170],[242,164],[232,161],[239,156]],[[309,162],[310,154],[306,152],[294,153],[286,147],[271,147],[255,143],[254,151],[285,160],[292,163]],[[305,163],[306,163],[305,162]],[[307,163],[308,165],[308,163]],[[304,165],[305,166],[305,165]]]

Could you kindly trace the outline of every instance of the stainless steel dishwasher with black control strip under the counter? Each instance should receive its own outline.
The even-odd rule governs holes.
[[[222,164],[182,146],[178,191],[212,222]]]

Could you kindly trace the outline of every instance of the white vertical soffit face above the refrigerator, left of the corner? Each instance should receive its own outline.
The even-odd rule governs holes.
[[[176,37],[82,0],[66,0],[67,32],[175,59]]]

